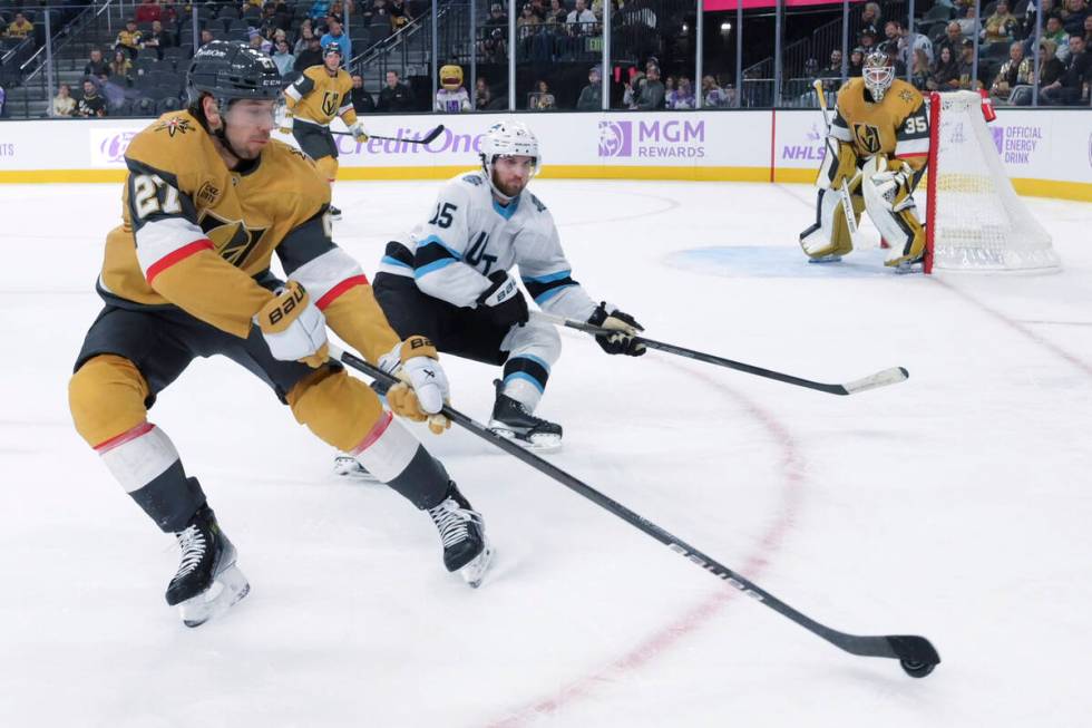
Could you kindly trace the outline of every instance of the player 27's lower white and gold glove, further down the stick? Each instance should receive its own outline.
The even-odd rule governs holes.
[[[399,379],[387,390],[391,411],[415,423],[428,420],[429,429],[437,435],[451,426],[440,414],[451,391],[431,341],[409,337],[379,358],[379,368]]]

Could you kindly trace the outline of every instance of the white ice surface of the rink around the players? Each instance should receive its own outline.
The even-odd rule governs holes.
[[[372,273],[436,186],[339,184],[338,242]],[[163,601],[177,547],[68,414],[119,185],[0,186],[0,726],[1092,725],[1092,205],[1027,201],[1060,274],[924,278],[878,250],[807,265],[808,186],[532,188],[574,276],[652,338],[823,381],[909,369],[832,397],[569,332],[539,411],[565,427],[558,466],[829,627],[927,635],[936,671],[844,653],[480,440],[422,430],[497,547],[471,591],[425,515],[333,476],[226,360],[150,414],[252,584],[184,628]],[[496,370],[443,362],[485,419]]]

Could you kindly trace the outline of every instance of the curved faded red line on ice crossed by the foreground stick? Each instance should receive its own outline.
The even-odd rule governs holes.
[[[730,395],[743,406],[748,415],[761,423],[773,435],[781,448],[781,494],[783,499],[781,512],[777,521],[771,524],[762,536],[762,542],[759,544],[758,550],[748,556],[743,566],[737,570],[748,579],[758,577],[769,563],[769,559],[780,547],[784,534],[792,524],[797,508],[800,505],[805,482],[803,459],[788,428],[771,411],[763,409],[738,391],[727,387],[723,382],[704,373],[688,368],[688,376],[702,379],[709,386],[721,389]],[[730,567],[732,566],[732,564],[728,565]],[[529,720],[550,716],[583,698],[591,697],[595,691],[596,685],[607,680],[624,678],[627,673],[647,666],[657,657],[675,647],[684,637],[689,637],[704,627],[725,604],[735,599],[739,593],[737,589],[725,584],[723,590],[718,591],[715,594],[712,594],[691,608],[677,619],[642,640],[636,648],[612,660],[602,669],[576,678],[552,695],[537,698],[525,706],[510,710],[507,717],[488,724],[487,728],[516,728]]]

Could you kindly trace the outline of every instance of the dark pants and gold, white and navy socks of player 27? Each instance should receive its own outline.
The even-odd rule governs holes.
[[[197,479],[186,475],[170,438],[148,421],[148,408],[193,359],[213,355],[226,356],[264,380],[291,407],[296,421],[329,445],[352,453],[418,508],[443,501],[449,479],[443,466],[340,365],[311,369],[274,359],[256,327],[244,340],[183,311],[108,305],[88,331],[69,382],[72,420],[163,531],[182,531],[205,503],[205,494]],[[261,454],[255,455],[253,465],[263,467]]]

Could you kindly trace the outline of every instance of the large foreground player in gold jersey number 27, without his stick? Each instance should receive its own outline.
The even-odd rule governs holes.
[[[329,324],[399,377],[388,402],[442,430],[448,396],[436,349],[399,340],[357,262],[330,237],[330,187],[314,163],[270,139],[280,96],[272,59],[240,42],[195,55],[189,107],[131,140],[123,220],[98,280],[105,308],[69,384],[77,431],[137,505],[182,547],[166,599],[196,627],[242,599],[246,579],[204,489],[147,420],[197,357],[225,356],[265,381],[296,421],[350,449],[432,517],[449,571],[476,585],[488,564],[481,517],[443,466],[328,358]],[[287,276],[274,278],[276,253]]]

